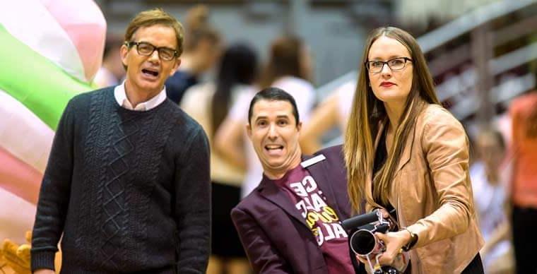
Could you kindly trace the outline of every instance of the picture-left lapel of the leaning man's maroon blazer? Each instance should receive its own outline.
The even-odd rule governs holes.
[[[300,211],[295,208],[295,205],[293,205],[293,202],[291,202],[287,193],[279,189],[272,181],[263,177],[258,191],[261,196],[264,196],[268,201],[271,201],[274,205],[283,209],[285,213],[306,225],[306,219],[300,215]]]

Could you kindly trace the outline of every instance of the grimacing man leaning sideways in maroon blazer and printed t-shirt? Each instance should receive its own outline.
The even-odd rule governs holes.
[[[257,93],[247,132],[263,179],[231,212],[256,273],[356,273],[341,220],[351,215],[341,145],[302,156],[295,100]]]

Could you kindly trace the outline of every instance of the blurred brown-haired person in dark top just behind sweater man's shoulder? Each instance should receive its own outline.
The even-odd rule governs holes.
[[[208,23],[208,8],[191,8],[187,15],[184,54],[181,66],[166,81],[166,94],[179,104],[184,92],[199,83],[202,73],[211,69],[220,56],[220,35]]]

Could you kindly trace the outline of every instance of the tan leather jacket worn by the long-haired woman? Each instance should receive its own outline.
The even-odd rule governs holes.
[[[468,138],[439,105],[425,107],[411,132],[389,201],[399,225],[418,235],[410,251],[412,273],[461,273],[484,244],[468,174]],[[370,176],[365,186],[370,198],[371,183]],[[374,207],[379,205],[367,205]]]

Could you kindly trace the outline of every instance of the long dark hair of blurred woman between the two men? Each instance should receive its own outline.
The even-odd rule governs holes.
[[[216,91],[211,103],[213,135],[228,114],[233,86],[252,84],[256,75],[257,54],[251,47],[246,44],[234,44],[225,50],[220,59]]]

